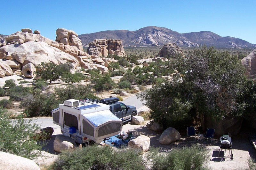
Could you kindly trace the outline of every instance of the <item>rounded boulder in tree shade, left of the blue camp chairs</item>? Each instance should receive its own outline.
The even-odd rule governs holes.
[[[180,133],[175,128],[167,128],[164,130],[162,135],[159,137],[161,144],[171,144],[180,139]]]

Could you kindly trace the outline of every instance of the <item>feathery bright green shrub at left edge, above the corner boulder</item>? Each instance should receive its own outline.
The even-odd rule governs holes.
[[[6,111],[0,108],[0,129],[3,135],[0,136],[0,151],[18,155],[24,158],[33,159],[40,155],[34,150],[40,150],[44,144],[37,144],[33,139],[34,132],[40,127],[32,123],[32,119],[9,119]]]

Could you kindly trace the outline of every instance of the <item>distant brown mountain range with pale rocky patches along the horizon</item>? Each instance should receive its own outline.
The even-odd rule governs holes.
[[[115,30],[78,35],[84,46],[94,39],[120,39],[127,46],[154,46],[176,43],[179,46],[215,46],[218,48],[254,48],[256,44],[234,37],[221,37],[209,31],[178,33],[171,29],[148,26],[137,31]]]

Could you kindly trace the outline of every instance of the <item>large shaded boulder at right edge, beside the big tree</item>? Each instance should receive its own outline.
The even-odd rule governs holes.
[[[242,65],[246,68],[245,75],[255,78],[256,75],[256,49],[241,60]]]

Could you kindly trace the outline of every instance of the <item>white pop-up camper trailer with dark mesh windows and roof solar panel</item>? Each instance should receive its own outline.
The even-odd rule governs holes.
[[[52,110],[53,123],[61,127],[62,135],[77,143],[96,143],[122,131],[123,122],[113,115],[109,106],[93,100],[66,100]]]

